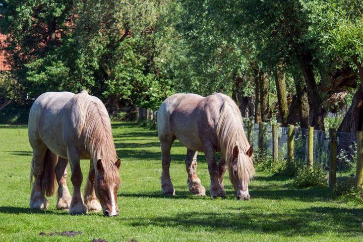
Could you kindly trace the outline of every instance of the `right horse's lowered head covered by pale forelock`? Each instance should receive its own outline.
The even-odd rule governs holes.
[[[252,146],[245,152],[238,146],[233,148],[233,160],[229,164],[229,178],[234,186],[238,200],[249,200],[248,184],[253,176],[255,168],[252,160]]]

